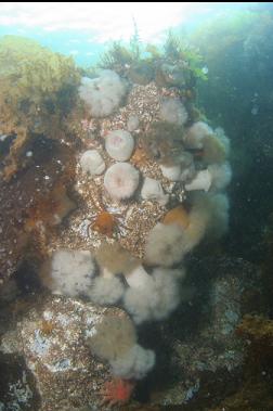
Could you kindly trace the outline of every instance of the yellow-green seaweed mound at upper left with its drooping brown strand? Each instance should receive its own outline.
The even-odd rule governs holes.
[[[64,137],[79,82],[72,57],[16,36],[0,40],[0,133],[16,136],[5,158],[4,177],[9,179],[20,168],[18,156],[35,134]]]

